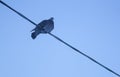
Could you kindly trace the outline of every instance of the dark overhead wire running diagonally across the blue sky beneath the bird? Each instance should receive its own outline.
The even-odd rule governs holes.
[[[30,19],[28,19],[27,17],[25,17],[23,14],[19,13],[18,11],[16,11],[15,9],[11,8],[9,5],[7,5],[6,3],[4,3],[3,1],[0,0],[0,3],[2,3],[3,5],[5,5],[6,7],[8,7],[9,9],[11,9],[12,11],[14,11],[15,13],[17,13],[18,15],[20,15],[21,17],[23,17],[24,19],[28,20],[30,23],[32,23],[33,25],[37,26],[36,23],[34,23],[33,21],[31,21]],[[75,50],[76,52],[82,54],[83,56],[87,57],[88,59],[90,59],[91,61],[95,62],[96,64],[98,64],[99,66],[103,67],[104,69],[108,70],[109,72],[115,74],[116,76],[120,77],[120,74],[116,73],[115,71],[111,70],[110,68],[106,67],[105,65],[101,64],[100,62],[96,61],[95,59],[93,59],[92,57],[86,55],[85,53],[81,52],[80,50],[76,49],[75,47],[73,47],[72,45],[66,43],[65,41],[63,41],[62,39],[60,39],[59,37],[55,36],[52,33],[48,33],[49,35],[51,35],[52,37],[54,37],[55,39],[57,39],[58,41],[64,43],[65,45],[67,45],[68,47],[72,48],[73,50]]]

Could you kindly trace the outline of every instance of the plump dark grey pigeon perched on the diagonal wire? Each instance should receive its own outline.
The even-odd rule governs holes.
[[[48,20],[41,21],[31,33],[32,39],[35,39],[40,33],[46,34],[50,33],[54,29],[54,18],[51,17]]]

